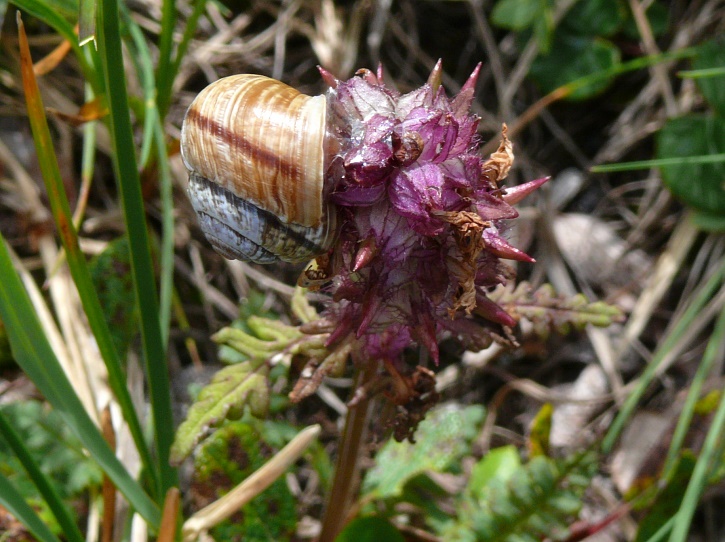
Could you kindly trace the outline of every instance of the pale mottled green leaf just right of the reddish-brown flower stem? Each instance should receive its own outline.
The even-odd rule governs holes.
[[[418,426],[415,444],[389,441],[380,450],[363,492],[376,498],[396,497],[416,475],[445,471],[468,452],[483,417],[484,409],[478,405],[431,410]]]

